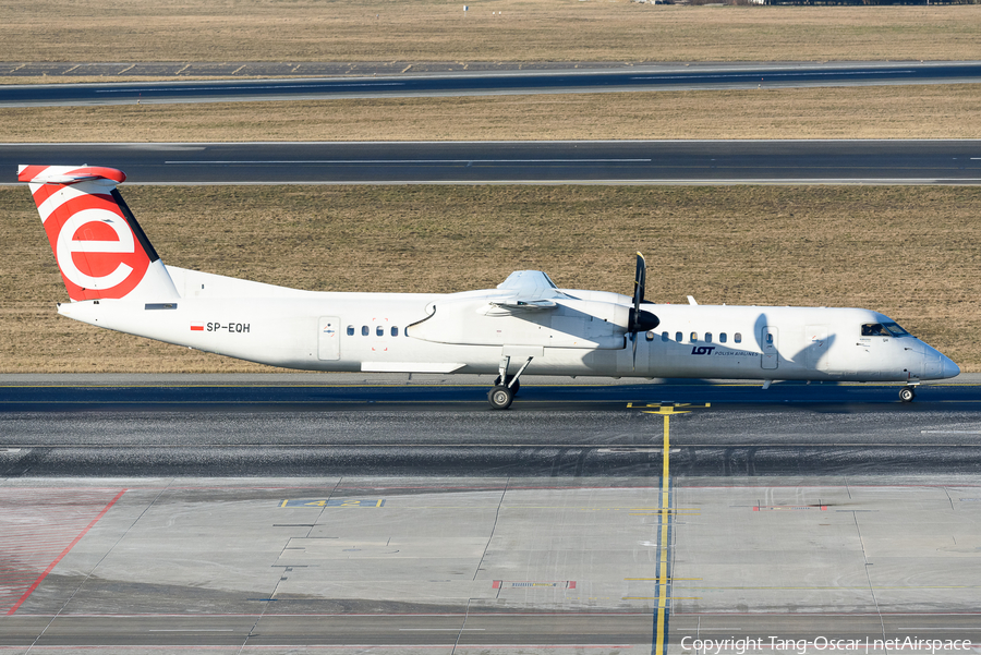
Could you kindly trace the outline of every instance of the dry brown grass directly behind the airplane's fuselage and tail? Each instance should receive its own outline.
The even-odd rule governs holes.
[[[864,306],[981,371],[981,189],[352,186],[125,190],[165,262],[317,290],[459,291],[538,268],[649,296]],[[366,208],[371,210],[366,210]],[[0,189],[0,372],[267,371],[58,316],[24,189]],[[353,265],[352,265],[353,264]]]

